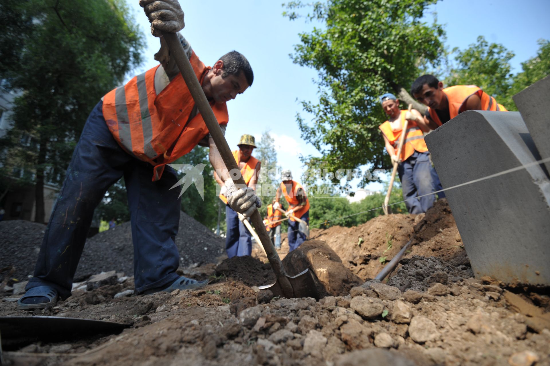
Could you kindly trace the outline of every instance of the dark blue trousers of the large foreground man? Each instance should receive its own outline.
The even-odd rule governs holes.
[[[179,226],[179,189],[169,189],[178,181],[175,171],[167,166],[162,178],[152,182],[153,167],[120,148],[103,118],[100,102],[90,113],[74,150],[27,290],[50,285],[62,298],[70,296],[94,209],[107,189],[123,176],[130,208],[136,292],[166,286],[179,277],[175,273],[179,253],[174,243]]]

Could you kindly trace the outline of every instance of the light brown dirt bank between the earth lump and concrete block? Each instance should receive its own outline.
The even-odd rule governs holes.
[[[405,256],[437,256],[450,260],[465,253],[446,199],[420,215],[384,215],[356,227],[315,229],[311,239],[326,242],[355,275],[366,281],[415,234],[416,241]]]

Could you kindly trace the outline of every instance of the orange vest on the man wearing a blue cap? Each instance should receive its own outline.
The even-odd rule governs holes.
[[[382,123],[378,127],[389,140],[389,143],[393,145],[396,153],[399,145],[399,137],[401,136],[401,132],[403,132],[403,125],[405,124],[406,112],[406,110],[401,111],[401,126],[399,129],[393,130],[389,121]],[[409,156],[414,154],[415,150],[418,152],[426,152],[428,148],[424,142],[424,134],[420,127],[418,127],[418,124],[415,121],[409,121],[407,124],[405,141],[403,141],[403,148],[401,148],[401,156],[399,156],[401,161],[409,159]]]

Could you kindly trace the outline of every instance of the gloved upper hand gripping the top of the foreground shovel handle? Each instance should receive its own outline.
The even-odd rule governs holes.
[[[178,0],[139,0],[151,23],[151,33],[162,37],[162,32],[176,33],[185,26],[183,10]]]

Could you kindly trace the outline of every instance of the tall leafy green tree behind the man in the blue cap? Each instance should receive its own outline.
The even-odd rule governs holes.
[[[308,20],[324,27],[301,33],[295,63],[318,72],[318,101],[302,101],[308,123],[297,116],[302,137],[321,152],[305,157],[309,168],[356,168],[367,163],[389,166],[378,131],[386,116],[378,97],[395,92],[414,102],[406,89],[426,65],[436,67],[444,53],[441,25],[423,23],[436,0],[327,0],[309,4]],[[301,17],[300,1],[286,4],[289,19]],[[419,103],[415,108],[424,110]],[[404,105],[404,107],[406,107]],[[384,157],[385,156],[385,157]],[[385,163],[385,164],[384,164]]]

